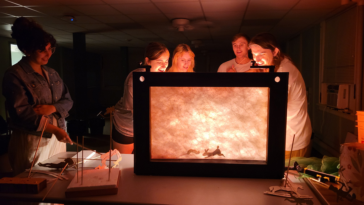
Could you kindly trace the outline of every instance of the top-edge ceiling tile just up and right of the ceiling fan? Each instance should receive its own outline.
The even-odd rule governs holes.
[[[248,0],[201,1],[204,12],[244,12]]]

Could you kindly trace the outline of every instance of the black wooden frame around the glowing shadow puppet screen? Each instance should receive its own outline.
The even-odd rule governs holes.
[[[144,77],[144,81],[140,77]],[[280,78],[276,82],[276,77]],[[236,160],[151,160],[150,87],[268,87],[266,163]],[[134,173],[203,177],[281,179],[284,175],[288,73],[157,73],[133,72]],[[206,162],[205,160],[210,160]],[[229,162],[230,161],[230,162]],[[223,162],[223,163],[219,163]]]

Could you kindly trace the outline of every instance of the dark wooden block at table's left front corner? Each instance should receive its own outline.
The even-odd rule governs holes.
[[[1,193],[30,193],[37,194],[47,187],[44,178],[4,177],[0,179]]]

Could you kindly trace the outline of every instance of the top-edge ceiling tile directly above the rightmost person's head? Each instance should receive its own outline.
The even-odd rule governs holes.
[[[259,10],[288,10],[291,9],[300,0],[253,0],[249,2],[248,11]]]

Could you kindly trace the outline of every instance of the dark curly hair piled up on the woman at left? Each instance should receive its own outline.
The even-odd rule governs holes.
[[[48,43],[51,47],[56,45],[56,39],[47,33],[34,20],[20,17],[16,19],[11,27],[11,36],[16,39],[16,44],[21,52],[25,54],[34,53],[36,50],[45,50]]]

